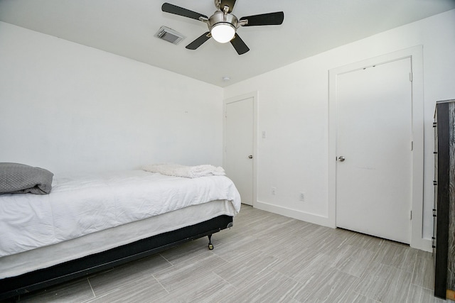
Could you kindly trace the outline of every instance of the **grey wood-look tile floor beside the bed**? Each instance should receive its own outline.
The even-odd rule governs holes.
[[[20,297],[21,302],[445,302],[432,254],[242,205],[208,239]]]

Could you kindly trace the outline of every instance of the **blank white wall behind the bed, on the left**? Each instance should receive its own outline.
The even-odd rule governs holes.
[[[222,99],[220,87],[0,22],[0,162],[221,165]]]

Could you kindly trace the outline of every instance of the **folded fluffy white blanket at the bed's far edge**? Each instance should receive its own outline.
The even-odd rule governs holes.
[[[186,177],[186,178],[197,178],[206,176],[224,176],[225,170],[223,167],[215,167],[213,165],[196,165],[186,166],[178,164],[149,164],[144,165],[142,170],[146,172],[158,172],[161,175],[175,176],[175,177]]]

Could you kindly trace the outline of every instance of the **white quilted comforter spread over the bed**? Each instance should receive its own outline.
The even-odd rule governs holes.
[[[50,194],[0,195],[0,257],[240,194],[228,177],[194,179],[133,170],[54,177]]]

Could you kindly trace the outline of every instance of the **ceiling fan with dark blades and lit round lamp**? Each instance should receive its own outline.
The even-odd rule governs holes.
[[[207,23],[208,32],[200,35],[199,38],[192,43],[186,45],[188,50],[196,50],[205,41],[214,38],[219,43],[230,42],[239,55],[247,53],[250,48],[247,47],[245,42],[236,33],[237,28],[240,26],[273,26],[283,23],[284,13],[277,11],[276,13],[262,13],[260,15],[246,16],[237,19],[232,15],[235,0],[215,0],[217,10],[210,18],[202,13],[183,9],[183,7],[173,4],[164,3],[161,10],[166,13],[173,13],[178,16],[193,18]]]

